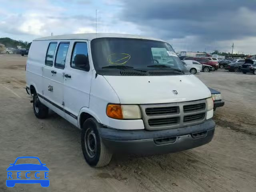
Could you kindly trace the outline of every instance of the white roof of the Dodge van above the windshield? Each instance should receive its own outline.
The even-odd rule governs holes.
[[[86,39],[93,40],[96,38],[104,38],[104,37],[114,37],[114,38],[135,38],[135,39],[148,39],[148,40],[156,40],[163,41],[161,39],[149,38],[140,35],[128,35],[128,34],[114,34],[114,33],[83,33],[83,34],[68,34],[68,35],[56,35],[56,36],[48,36],[37,38],[34,41],[40,40],[72,40],[72,39]]]

